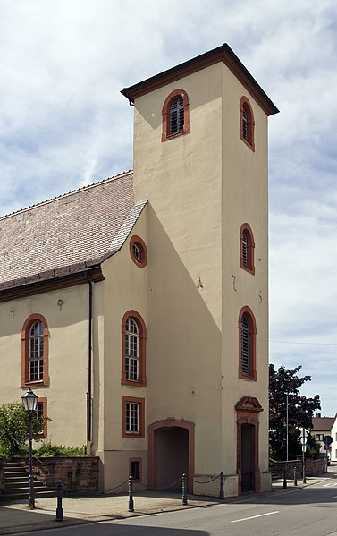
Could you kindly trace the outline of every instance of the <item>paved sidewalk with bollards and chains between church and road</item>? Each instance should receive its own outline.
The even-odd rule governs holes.
[[[298,488],[310,486],[316,482],[329,478],[329,474],[320,477],[308,477],[307,483],[298,481]],[[293,481],[287,482],[287,489],[283,489],[282,479],[273,481],[272,493],[287,493],[293,486]],[[269,495],[269,494],[263,494]],[[256,495],[253,495],[253,497]],[[241,498],[247,499],[247,496]],[[240,500],[230,498],[228,500]],[[55,529],[58,527],[79,525],[81,523],[94,523],[112,519],[123,519],[136,515],[151,515],[160,512],[172,512],[186,508],[210,506],[219,504],[215,498],[189,496],[188,505],[182,505],[181,496],[176,493],[154,494],[143,493],[134,497],[134,512],[129,512],[129,498],[125,495],[102,495],[85,498],[63,498],[63,522],[55,521],[56,498],[36,499],[36,509],[29,510],[27,501],[0,504],[0,534],[23,533],[42,529]]]

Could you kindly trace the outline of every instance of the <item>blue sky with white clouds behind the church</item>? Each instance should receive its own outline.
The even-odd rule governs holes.
[[[270,361],[337,411],[335,0],[2,0],[0,214],[132,167],[123,87],[228,43],[269,122]],[[336,247],[337,249],[337,247]]]

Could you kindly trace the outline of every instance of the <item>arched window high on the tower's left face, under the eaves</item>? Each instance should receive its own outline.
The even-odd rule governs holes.
[[[163,110],[162,141],[190,132],[190,104],[183,89],[174,89],[165,99]]]

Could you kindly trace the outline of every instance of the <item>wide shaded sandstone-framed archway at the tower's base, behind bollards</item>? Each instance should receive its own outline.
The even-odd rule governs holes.
[[[194,475],[194,424],[166,419],[148,427],[148,485],[164,488],[180,479],[185,472]],[[181,482],[176,486],[181,489]],[[188,481],[190,493],[192,481]]]

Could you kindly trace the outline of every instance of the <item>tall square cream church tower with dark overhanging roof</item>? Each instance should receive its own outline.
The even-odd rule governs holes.
[[[268,490],[267,119],[278,110],[228,45],[122,94],[134,201],[148,201],[149,485],[187,472],[198,493],[194,477],[223,472],[226,495]]]

